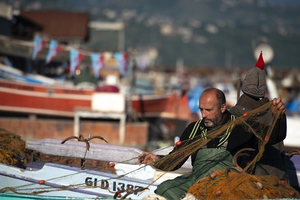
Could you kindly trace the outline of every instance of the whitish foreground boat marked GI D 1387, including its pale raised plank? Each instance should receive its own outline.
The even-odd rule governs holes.
[[[116,173],[40,161],[31,161],[26,168],[0,163],[0,192],[21,194],[25,199],[31,194],[45,196],[45,199],[55,199],[55,196],[112,198],[118,193],[118,198],[145,199],[160,182],[191,172],[190,159],[176,171],[162,172],[149,165],[138,165],[136,157],[142,152],[138,148],[89,142],[87,150],[86,142],[61,141],[45,138],[27,140],[25,145],[27,149],[50,155],[109,161]],[[171,148],[153,153],[165,154]],[[287,165],[290,185],[299,190],[300,155],[287,156]]]

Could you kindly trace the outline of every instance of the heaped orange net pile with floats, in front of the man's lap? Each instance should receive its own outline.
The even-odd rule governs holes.
[[[276,176],[255,176],[251,174],[215,170],[199,179],[187,191],[198,199],[266,199],[300,198],[300,194],[284,180]]]

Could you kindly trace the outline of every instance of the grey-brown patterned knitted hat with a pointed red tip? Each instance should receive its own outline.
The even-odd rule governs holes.
[[[262,53],[260,52],[257,63],[246,74],[241,90],[244,94],[254,97],[263,98],[266,90],[265,86],[265,74],[263,72],[264,62],[262,59]]]

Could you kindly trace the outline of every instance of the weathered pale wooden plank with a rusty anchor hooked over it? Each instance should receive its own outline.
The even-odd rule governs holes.
[[[138,164],[137,157],[143,151],[135,147],[118,146],[89,142],[89,150],[83,141],[67,140],[61,144],[62,139],[44,138],[40,140],[27,140],[25,147],[43,154],[85,158],[100,161],[110,161],[126,164]]]

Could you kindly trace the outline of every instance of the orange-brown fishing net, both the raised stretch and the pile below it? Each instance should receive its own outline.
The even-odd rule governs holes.
[[[262,113],[263,117],[261,117]],[[261,158],[264,146],[279,117],[281,117],[281,111],[270,101],[221,127],[209,131],[206,140],[196,139],[193,142],[186,142],[186,145],[182,144],[174,153],[155,161],[154,166],[163,168],[165,171],[171,170],[184,157],[194,153],[212,138],[222,135],[228,128],[241,125],[244,130],[253,133],[258,139],[258,153],[247,162],[243,169],[236,164],[236,157],[246,154],[237,153],[233,156],[235,166],[229,166],[224,170],[215,170],[212,174],[206,175],[196,181],[187,193],[191,193],[198,199],[299,198],[300,194],[297,190],[276,176],[258,177],[247,173],[252,171],[255,163]],[[172,160],[172,162],[168,160]],[[232,168],[237,171],[230,171]]]

